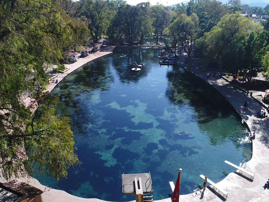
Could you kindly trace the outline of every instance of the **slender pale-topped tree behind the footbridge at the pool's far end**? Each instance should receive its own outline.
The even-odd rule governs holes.
[[[155,29],[154,34],[156,37],[156,42],[159,41],[159,35],[163,35],[164,28],[168,27],[171,20],[171,10],[169,8],[164,7],[163,5],[154,5],[151,7],[152,9],[152,27]]]

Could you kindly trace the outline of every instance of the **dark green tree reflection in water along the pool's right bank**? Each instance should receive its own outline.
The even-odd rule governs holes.
[[[195,114],[191,119],[198,122],[200,132],[206,134],[212,145],[223,145],[227,137],[233,133],[238,135],[243,130],[234,109],[212,86],[178,67],[169,69],[166,78],[168,82],[166,97],[172,104],[188,104],[193,107]],[[218,121],[212,126],[214,122],[211,121],[214,120]],[[212,131],[208,131],[209,127]],[[237,141],[232,142],[236,147],[240,147]]]

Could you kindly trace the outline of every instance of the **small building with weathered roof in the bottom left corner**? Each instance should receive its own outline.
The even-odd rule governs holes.
[[[43,191],[18,179],[0,183],[0,201],[43,202]]]

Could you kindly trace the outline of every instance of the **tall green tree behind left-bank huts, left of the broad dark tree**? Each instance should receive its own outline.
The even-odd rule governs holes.
[[[85,11],[81,16],[85,16],[88,29],[94,42],[98,42],[98,37],[104,34],[109,26],[110,11],[104,0],[86,0]]]

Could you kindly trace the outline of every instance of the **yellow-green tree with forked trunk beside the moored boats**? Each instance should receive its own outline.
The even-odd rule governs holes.
[[[193,50],[193,43],[199,31],[199,19],[195,13],[191,16],[179,15],[169,26],[170,34],[181,43],[184,51],[190,58]]]

